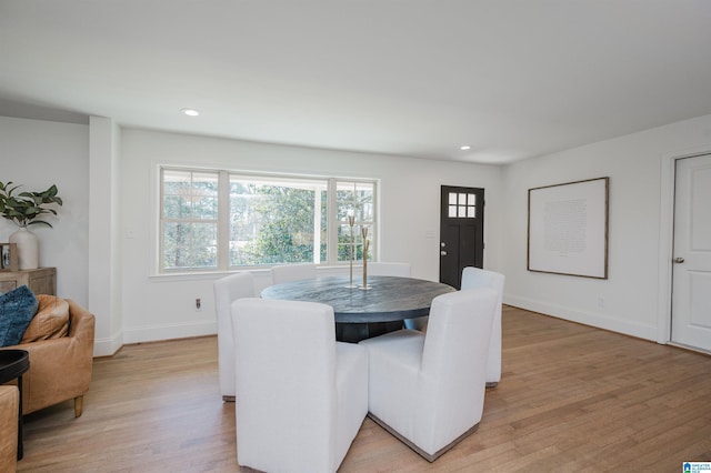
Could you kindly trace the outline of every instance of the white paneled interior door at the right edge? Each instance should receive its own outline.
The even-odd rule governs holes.
[[[711,352],[711,154],[675,175],[671,340]]]

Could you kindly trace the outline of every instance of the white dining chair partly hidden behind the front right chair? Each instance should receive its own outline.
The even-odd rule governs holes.
[[[501,273],[467,266],[462,270],[462,291],[475,288],[490,288],[497,291],[497,311],[491,325],[491,343],[487,361],[487,388],[495,388],[501,381],[501,304],[503,303],[503,283]]]

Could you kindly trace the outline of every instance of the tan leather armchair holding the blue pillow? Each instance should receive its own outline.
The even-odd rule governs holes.
[[[74,416],[83,410],[83,396],[91,383],[94,316],[72,300],[69,302],[69,333],[59,339],[22,343],[7,349],[27,350],[30,369],[22,375],[22,413],[74,400]]]

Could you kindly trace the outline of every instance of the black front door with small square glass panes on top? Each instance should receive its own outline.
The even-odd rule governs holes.
[[[442,185],[440,282],[460,289],[465,266],[483,268],[484,190]]]

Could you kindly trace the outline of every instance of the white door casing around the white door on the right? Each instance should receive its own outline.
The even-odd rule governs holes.
[[[659,212],[659,290],[657,342],[671,341],[672,259],[674,244],[674,185],[678,159],[711,153],[711,144],[671,151],[661,157]]]

